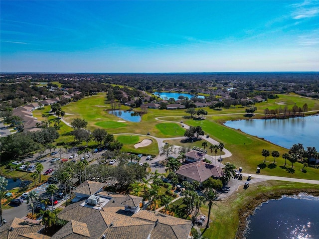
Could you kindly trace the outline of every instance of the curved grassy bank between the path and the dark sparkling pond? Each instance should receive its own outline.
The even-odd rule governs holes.
[[[251,184],[247,190],[240,188],[226,200],[217,201],[217,206],[212,207],[212,223],[210,228],[202,230],[203,236],[214,239],[241,239],[246,226],[246,218],[258,205],[269,199],[300,192],[319,195],[319,187],[311,184],[265,181]],[[207,206],[203,206],[201,211],[207,215]]]

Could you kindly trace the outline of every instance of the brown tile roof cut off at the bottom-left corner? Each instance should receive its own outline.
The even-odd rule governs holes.
[[[43,228],[44,225],[14,218],[0,227],[0,239],[50,239],[38,233]]]

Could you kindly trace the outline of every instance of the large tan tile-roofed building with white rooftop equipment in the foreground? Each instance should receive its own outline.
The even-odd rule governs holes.
[[[81,201],[63,209],[58,218],[68,223],[51,239],[187,239],[189,236],[191,221],[140,210],[141,197],[104,191],[95,195],[103,198],[98,207]],[[134,207],[139,210],[132,210]]]

